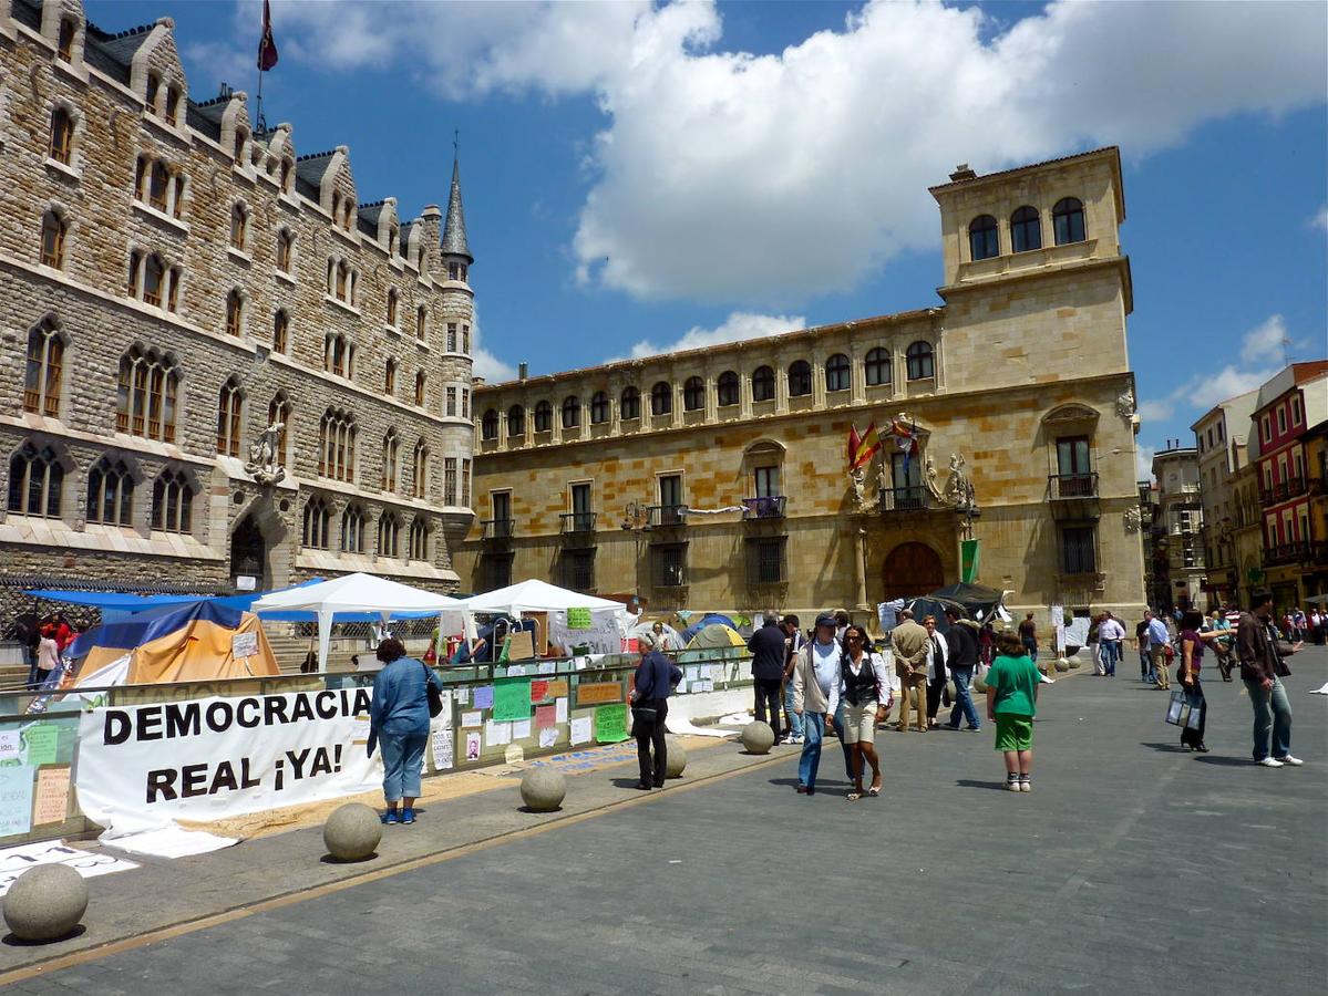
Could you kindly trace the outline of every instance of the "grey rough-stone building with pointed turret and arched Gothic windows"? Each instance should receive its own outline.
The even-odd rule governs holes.
[[[9,584],[457,584],[473,314],[446,216],[364,203],[246,95],[197,101],[169,19],[0,15]]]

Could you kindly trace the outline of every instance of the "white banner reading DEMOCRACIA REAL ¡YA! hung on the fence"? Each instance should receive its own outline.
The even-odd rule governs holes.
[[[382,780],[356,723],[371,699],[339,688],[92,710],[78,725],[78,804],[112,840],[367,792]]]

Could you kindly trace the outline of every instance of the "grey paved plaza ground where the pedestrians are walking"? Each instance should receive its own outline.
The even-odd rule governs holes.
[[[1044,691],[1029,794],[988,731],[882,732],[879,800],[831,744],[813,798],[790,756],[13,989],[1320,993],[1328,654],[1293,666],[1303,768],[1250,764],[1239,682],[1182,752],[1126,664]]]

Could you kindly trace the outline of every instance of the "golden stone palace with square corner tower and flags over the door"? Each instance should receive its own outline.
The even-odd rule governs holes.
[[[935,306],[477,389],[469,586],[866,614],[959,580],[971,530],[1016,609],[1137,615],[1118,151],[931,194]],[[899,435],[853,479],[872,422]]]

